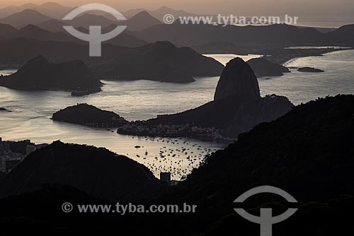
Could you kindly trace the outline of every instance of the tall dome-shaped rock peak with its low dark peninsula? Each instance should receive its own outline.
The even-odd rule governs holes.
[[[132,126],[156,127],[160,124],[177,124],[217,129],[217,134],[237,138],[257,124],[270,122],[292,110],[292,103],[285,97],[267,95],[261,98],[256,76],[242,59],[232,59],[222,71],[215,100],[177,114],[159,115],[155,119],[132,123]],[[139,129],[136,129],[139,130]],[[159,129],[157,129],[159,131]],[[207,132],[207,131],[205,131]],[[135,129],[118,129],[120,134],[146,135]],[[185,136],[185,133],[171,136]],[[149,134],[150,135],[150,134]],[[166,136],[166,132],[155,134]],[[199,137],[199,136],[198,136]]]

